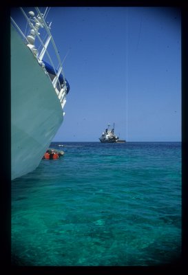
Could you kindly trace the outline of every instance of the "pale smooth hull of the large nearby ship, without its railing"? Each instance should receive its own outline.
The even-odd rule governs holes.
[[[50,79],[11,26],[11,178],[34,170],[63,122]]]

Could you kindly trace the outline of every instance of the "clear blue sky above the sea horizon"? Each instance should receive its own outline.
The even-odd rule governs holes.
[[[48,20],[70,83],[53,141],[97,142],[113,123],[128,142],[181,140],[178,10],[52,7]]]

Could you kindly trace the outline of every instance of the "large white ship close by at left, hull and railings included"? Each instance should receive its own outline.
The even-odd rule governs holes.
[[[39,166],[63,122],[70,90],[50,32],[52,22],[46,23],[50,8],[44,14],[39,8],[25,9],[17,8],[15,13],[12,8],[10,18],[11,179]],[[27,34],[23,34],[25,26]]]

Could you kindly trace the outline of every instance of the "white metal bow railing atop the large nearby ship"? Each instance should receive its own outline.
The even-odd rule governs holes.
[[[58,50],[57,50],[56,45],[54,43],[54,39],[52,37],[52,34],[49,30],[51,23],[50,23],[49,26],[45,23],[45,20],[43,18],[44,16],[43,16],[43,14],[41,14],[39,8],[35,8],[35,10],[37,12],[37,17],[34,17],[34,12],[30,12],[30,18],[24,12],[23,8],[20,8],[20,10],[21,10],[23,16],[25,17],[26,21],[28,22],[28,24],[30,26],[30,34],[32,34],[32,36],[30,36],[30,37],[32,37],[34,39],[34,42],[35,42],[35,38],[37,37],[39,39],[39,43],[40,43],[39,47],[41,47],[41,45],[43,47],[40,54],[38,53],[38,50],[35,48],[36,46],[34,45],[34,43],[32,44],[30,42],[29,36],[25,36],[25,34],[23,34],[23,32],[21,31],[21,28],[19,28],[19,26],[14,21],[14,19],[12,19],[12,17],[11,17],[11,21],[12,21],[13,25],[19,31],[21,36],[23,36],[23,39],[25,40],[25,43],[27,43],[28,47],[30,47],[30,50],[32,50],[32,53],[36,57],[37,61],[41,65],[41,67],[43,67],[43,69],[45,71],[45,74],[47,74],[48,77],[50,78],[48,72],[45,69],[45,64],[43,63],[43,60],[42,60],[43,56],[45,54],[48,56],[48,60],[50,61],[50,65],[52,66],[52,68],[54,70],[54,78],[53,79],[50,78],[50,80],[51,80],[52,85],[53,85],[53,87],[56,91],[57,96],[59,96],[59,100],[60,100],[61,106],[63,108],[64,105],[65,105],[65,96],[66,96],[66,93],[67,93],[67,86],[66,86],[65,75],[64,75],[64,72],[63,72],[63,65],[62,65],[62,62],[61,62],[61,58],[59,56]],[[45,10],[45,12],[46,11],[47,11],[47,9]],[[34,21],[35,25],[32,23],[32,21]],[[48,34],[48,39],[45,42],[43,42],[42,39],[41,39],[41,36],[38,32],[39,28],[43,28],[43,30],[45,30],[45,32],[47,32],[47,34]],[[52,61],[52,58],[51,58],[51,56],[50,56],[50,54],[47,50],[48,44],[50,42],[52,44],[55,56],[56,56],[57,61],[58,61],[58,65],[57,65],[57,67],[59,68],[58,71],[56,70],[54,62]],[[38,49],[39,49],[39,47],[38,47]],[[60,80],[59,80],[60,74],[62,74],[62,76],[63,76],[63,85],[61,85]]]

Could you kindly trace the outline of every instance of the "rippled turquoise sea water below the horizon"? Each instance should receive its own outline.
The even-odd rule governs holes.
[[[12,181],[12,263],[138,266],[180,257],[180,142],[51,147],[65,155]]]

